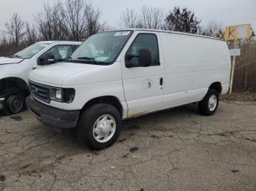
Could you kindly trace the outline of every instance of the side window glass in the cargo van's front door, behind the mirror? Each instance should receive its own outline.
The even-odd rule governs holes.
[[[159,66],[159,48],[157,36],[155,34],[138,34],[134,42],[132,42],[127,55],[132,55],[131,63],[133,67],[139,66],[138,53],[139,50],[147,49],[151,52],[151,66]]]

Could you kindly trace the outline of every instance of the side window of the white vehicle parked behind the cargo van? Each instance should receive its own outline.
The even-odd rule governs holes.
[[[55,61],[63,61],[72,55],[72,47],[70,45],[58,45],[52,47],[47,52],[50,52],[54,56]]]

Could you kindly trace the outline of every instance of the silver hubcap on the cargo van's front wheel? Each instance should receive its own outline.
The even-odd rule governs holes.
[[[109,141],[115,132],[116,120],[110,114],[102,115],[94,122],[93,135],[99,143]]]

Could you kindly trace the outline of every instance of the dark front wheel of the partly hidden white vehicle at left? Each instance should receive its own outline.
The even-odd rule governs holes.
[[[18,87],[8,87],[3,90],[4,109],[1,114],[18,114],[26,109],[25,93]]]

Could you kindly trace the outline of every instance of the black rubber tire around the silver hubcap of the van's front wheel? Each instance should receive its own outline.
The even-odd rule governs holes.
[[[111,116],[113,120],[116,122],[116,130],[113,131],[113,136],[110,140],[106,142],[99,142],[94,138],[95,133],[93,131],[94,125],[97,120],[102,116]],[[78,122],[78,138],[90,149],[105,149],[110,147],[116,139],[121,131],[121,114],[118,110],[109,105],[109,104],[95,104],[86,109],[83,114],[80,116],[80,120]],[[111,134],[111,133],[110,133]]]

